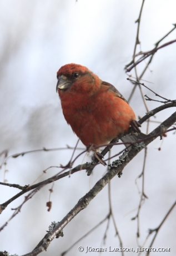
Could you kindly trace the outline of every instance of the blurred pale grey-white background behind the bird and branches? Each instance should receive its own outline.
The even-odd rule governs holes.
[[[112,83],[128,99],[132,85],[126,80],[124,65],[131,61],[138,18],[142,1],[138,0],[4,0],[0,3],[1,18],[1,151],[9,150],[9,155],[25,151],[76,145],[73,134],[64,120],[61,104],[56,93],[56,72],[66,63],[79,63],[87,66],[102,80]],[[175,0],[146,0],[140,26],[141,49],[151,50],[154,43],[162,38],[176,23]],[[174,31],[163,43],[174,40]],[[144,79],[154,91],[169,99],[176,98],[175,92],[175,44],[158,51],[150,70]],[[139,48],[138,48],[139,49]],[[138,67],[140,73],[141,67]],[[150,72],[152,71],[152,72]],[[134,76],[134,71],[131,72]],[[154,97],[144,89],[144,93]],[[136,115],[145,115],[139,91],[130,102]],[[149,109],[160,104],[148,102]],[[157,115],[158,121],[167,118],[174,109]],[[150,125],[150,130],[156,124]],[[145,125],[142,130],[145,132]],[[79,142],[79,146],[83,146]],[[145,193],[149,199],[141,211],[140,245],[147,236],[148,228],[159,225],[175,200],[175,136],[173,132],[164,138],[162,150],[159,139],[148,150],[145,174]],[[113,152],[119,151],[115,148]],[[72,151],[40,152],[17,159],[9,159],[6,179],[9,183],[32,184],[49,166],[67,164]],[[76,164],[90,160],[80,157]],[[143,152],[125,168],[121,179],[112,181],[112,201],[115,219],[124,247],[137,246],[135,216],[139,194],[135,178],[142,171]],[[50,169],[40,180],[49,178],[58,169]],[[51,184],[41,189],[26,203],[0,234],[0,250],[11,254],[25,254],[37,245],[48,229],[51,221],[61,220],[77,201],[86,194],[95,182],[102,177],[105,169],[99,166],[93,176],[85,171],[71,178],[64,178],[54,184],[51,196],[52,210],[48,213]],[[3,181],[3,168],[0,170]],[[140,180],[138,180],[140,186]],[[11,198],[19,190],[1,186],[1,203]],[[47,252],[42,255],[59,255],[78,238],[93,228],[108,214],[108,187],[79,213],[64,229],[64,237],[54,239]],[[1,225],[12,215],[11,208],[22,203],[24,196],[10,204],[3,211]],[[153,247],[171,248],[170,253],[152,255],[175,255],[175,213],[174,209],[160,230]],[[115,231],[110,222],[107,243],[102,244],[105,224],[78,245],[90,247],[119,247]],[[149,241],[145,244],[148,247]],[[83,255],[74,247],[68,255]],[[110,253],[110,255],[115,253]],[[117,254],[117,253],[116,253]],[[115,255],[116,255],[115,254]],[[131,253],[132,254],[132,253]],[[97,255],[91,253],[91,255]],[[104,254],[103,254],[104,255]],[[105,254],[105,255],[108,255]],[[127,253],[130,255],[130,253]]]

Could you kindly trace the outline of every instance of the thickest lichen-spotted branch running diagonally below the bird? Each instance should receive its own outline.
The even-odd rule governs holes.
[[[81,210],[85,209],[90,201],[94,199],[94,197],[104,188],[105,185],[109,183],[110,180],[114,178],[118,173],[122,173],[124,167],[150,142],[152,142],[156,137],[158,137],[159,132],[166,132],[170,126],[174,124],[176,121],[176,112],[172,114],[167,120],[165,120],[161,125],[159,125],[155,130],[150,132],[149,135],[155,135],[153,139],[149,139],[145,141],[143,145],[132,148],[128,152],[128,156],[123,159],[120,165],[116,166],[112,164],[110,171],[106,173],[102,179],[98,180],[97,183],[93,186],[90,191],[84,195],[78,203],[74,206],[74,208],[69,211],[69,213],[59,222],[56,228],[54,228],[51,232],[48,233],[47,239],[43,238],[43,243],[39,245],[39,247],[35,248],[31,253],[27,253],[23,256],[34,256],[46,250],[49,244],[52,242],[53,238],[63,230],[64,227],[76,216]]]

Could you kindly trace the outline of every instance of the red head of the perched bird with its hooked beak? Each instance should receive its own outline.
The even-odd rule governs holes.
[[[74,63],[67,64],[59,68],[57,72],[56,91],[61,97],[67,91],[77,93],[94,94],[100,87],[100,79],[94,75],[87,67]]]

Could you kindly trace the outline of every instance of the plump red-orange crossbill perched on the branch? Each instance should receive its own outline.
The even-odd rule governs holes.
[[[130,126],[140,133],[140,124],[122,94],[87,67],[64,65],[57,79],[63,115],[85,146],[108,144]]]

